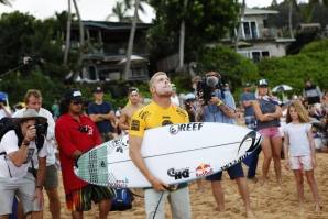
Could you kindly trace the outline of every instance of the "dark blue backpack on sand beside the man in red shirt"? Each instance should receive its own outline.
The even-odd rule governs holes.
[[[127,188],[112,188],[114,197],[111,199],[110,211],[123,211],[132,208],[132,197]]]

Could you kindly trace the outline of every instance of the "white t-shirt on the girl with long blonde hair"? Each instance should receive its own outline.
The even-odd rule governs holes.
[[[311,155],[308,140],[308,131],[311,129],[310,123],[293,124],[292,122],[284,127],[284,133],[289,139],[291,156]]]

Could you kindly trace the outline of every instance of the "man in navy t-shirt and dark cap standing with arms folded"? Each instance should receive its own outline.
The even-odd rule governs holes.
[[[101,87],[95,87],[94,97],[95,102],[88,106],[88,113],[90,119],[96,123],[101,142],[108,142],[113,139],[113,128],[110,120],[114,120],[114,111],[110,102],[103,101],[103,90]]]

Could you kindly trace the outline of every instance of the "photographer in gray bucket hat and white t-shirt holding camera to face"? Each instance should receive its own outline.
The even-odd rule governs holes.
[[[44,198],[42,194],[46,171],[46,141],[39,134],[39,125],[47,122],[33,109],[26,109],[13,123],[18,129],[8,131],[0,142],[0,218],[8,219],[12,213],[14,195],[20,199],[24,213],[32,213],[33,219],[43,218]],[[28,172],[30,161],[37,156],[37,177]]]

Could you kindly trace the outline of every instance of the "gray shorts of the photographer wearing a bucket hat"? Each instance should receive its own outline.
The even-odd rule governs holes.
[[[31,201],[35,191],[35,178],[28,172],[26,176],[18,180],[0,178],[0,215],[12,213],[13,197],[17,195],[22,204],[24,213],[42,211],[37,206],[37,199]]]

